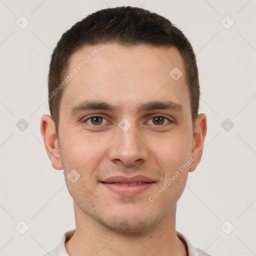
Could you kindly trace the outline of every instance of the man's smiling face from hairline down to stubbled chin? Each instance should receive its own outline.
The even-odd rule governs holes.
[[[169,74],[174,67],[178,79],[180,71]],[[74,68],[60,102],[61,166],[53,159],[53,167],[63,167],[80,214],[124,232],[155,226],[176,205],[206,132],[197,123],[193,133],[181,54],[86,45],[70,57],[67,74]]]

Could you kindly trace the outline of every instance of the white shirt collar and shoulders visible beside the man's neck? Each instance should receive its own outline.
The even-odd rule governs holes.
[[[50,255],[50,256],[70,256],[66,252],[65,241],[68,240],[72,236],[73,231],[74,231],[74,229],[66,231],[62,235],[61,241],[58,244],[58,246],[55,249],[47,252],[43,256],[48,256],[48,255]],[[182,235],[178,231],[176,231],[176,233],[177,233],[177,236],[180,238],[180,240],[185,244],[187,251],[188,251],[188,256],[210,256],[203,250],[193,247],[193,245],[186,239],[186,237],[184,235]]]

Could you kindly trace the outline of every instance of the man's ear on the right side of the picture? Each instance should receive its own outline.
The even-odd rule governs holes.
[[[195,170],[196,166],[201,160],[204,138],[207,132],[207,123],[206,115],[204,113],[198,114],[193,132],[193,145],[191,151],[191,161],[192,163],[189,166],[189,171],[192,172]]]

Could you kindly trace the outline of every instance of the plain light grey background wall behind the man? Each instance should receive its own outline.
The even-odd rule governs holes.
[[[199,112],[206,114],[208,130],[202,160],[178,201],[176,229],[212,255],[255,255],[255,3],[0,0],[0,255],[42,255],[74,228],[63,171],[52,168],[39,130],[41,115],[49,113],[50,55],[72,24],[121,5],[170,19],[197,57]],[[21,15],[29,21],[24,29],[15,24]],[[229,29],[220,22],[226,15],[234,21]],[[16,127],[21,118],[29,124],[23,131]],[[228,131],[221,126],[226,118],[234,124]],[[15,229],[21,220],[29,226],[24,234]],[[225,231],[234,226],[229,234],[220,228],[226,220],[231,224],[224,224]]]

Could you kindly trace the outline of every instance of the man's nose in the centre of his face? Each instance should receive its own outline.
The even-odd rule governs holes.
[[[110,160],[125,166],[141,165],[149,155],[149,148],[144,140],[135,124],[127,130],[116,127],[116,135],[110,141],[108,154]]]

